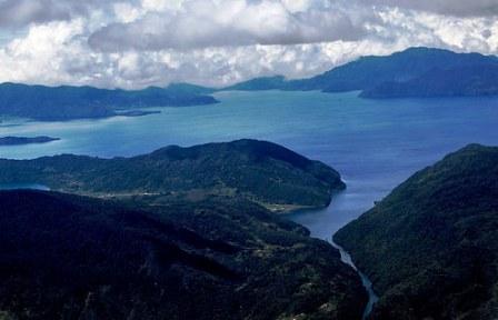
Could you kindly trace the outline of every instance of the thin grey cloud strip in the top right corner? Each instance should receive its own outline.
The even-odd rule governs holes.
[[[450,14],[457,17],[498,16],[497,0],[360,0],[363,4],[378,4]]]

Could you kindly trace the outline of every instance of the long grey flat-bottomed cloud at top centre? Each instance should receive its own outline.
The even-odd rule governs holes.
[[[149,11],[106,26],[89,43],[101,51],[158,51],[358,40],[365,34],[350,12],[329,1],[186,0],[178,10]]]

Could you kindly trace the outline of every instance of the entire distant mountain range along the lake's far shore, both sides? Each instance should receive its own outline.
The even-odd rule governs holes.
[[[360,97],[375,99],[495,96],[497,79],[495,56],[411,48],[387,57],[363,57],[309,79],[266,77],[218,89],[190,83],[135,91],[3,83],[0,84],[0,116],[51,121],[138,114],[118,111],[210,104],[218,102],[210,94],[227,90],[362,91]]]

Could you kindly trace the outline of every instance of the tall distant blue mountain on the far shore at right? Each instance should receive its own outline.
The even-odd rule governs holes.
[[[498,57],[411,48],[387,57],[363,57],[300,80],[257,78],[221,90],[362,91],[363,98],[498,94]]]

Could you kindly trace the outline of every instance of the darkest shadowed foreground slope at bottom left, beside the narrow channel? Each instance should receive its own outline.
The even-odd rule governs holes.
[[[233,199],[162,207],[0,192],[1,319],[360,319],[328,243]]]

